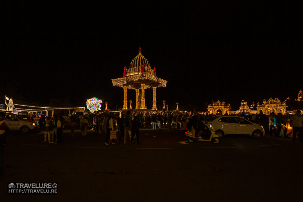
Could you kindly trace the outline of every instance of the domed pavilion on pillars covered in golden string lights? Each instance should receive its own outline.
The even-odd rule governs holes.
[[[153,104],[152,110],[157,110],[156,105],[156,88],[166,87],[167,81],[156,76],[156,68],[151,68],[149,61],[141,54],[132,60],[129,68],[124,67],[123,77],[112,79],[113,86],[123,88],[124,101],[123,110],[127,108],[127,89],[136,91],[136,109],[146,109],[145,106],[145,89],[152,88]],[[141,92],[139,92],[141,89]]]

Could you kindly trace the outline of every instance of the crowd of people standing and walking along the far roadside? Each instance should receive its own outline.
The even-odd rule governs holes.
[[[300,116],[298,116],[300,114]],[[277,138],[291,137],[295,141],[302,134],[303,127],[300,122],[303,119],[301,112],[298,111],[296,115],[283,115],[282,113],[265,115],[261,111],[260,114],[233,114],[241,118],[247,119],[253,123],[263,126],[271,136]],[[132,115],[130,111],[122,114],[119,117],[116,114],[100,114],[100,115],[77,115],[62,116],[61,114],[47,117],[45,120],[45,137],[43,142],[62,144],[62,133],[64,127],[70,127],[71,134],[74,136],[74,131],[79,128],[82,136],[86,136],[87,130],[94,130],[96,133],[106,134],[105,144],[120,143],[126,144],[127,137],[129,137],[130,145],[134,138],[137,138],[139,144],[139,129],[151,128],[152,130],[161,129],[163,127],[170,127],[172,124],[177,125],[183,131],[188,128],[194,128],[197,135],[202,131],[203,122],[213,114],[191,113],[158,113],[158,114],[136,114]],[[297,118],[295,117],[298,117]],[[199,129],[201,128],[201,130]],[[194,133],[195,133],[194,131]],[[298,133],[298,134],[297,134]],[[293,135],[295,134],[295,135]],[[194,134],[195,135],[195,134]],[[302,142],[302,141],[301,141]]]

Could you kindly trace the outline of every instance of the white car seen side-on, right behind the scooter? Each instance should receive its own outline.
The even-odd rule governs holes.
[[[216,134],[220,137],[225,134],[248,134],[255,138],[265,135],[263,126],[237,116],[214,116],[205,121],[215,129]]]

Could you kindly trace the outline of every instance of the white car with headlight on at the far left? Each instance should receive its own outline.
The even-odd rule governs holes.
[[[11,131],[20,130],[22,133],[28,133],[36,127],[34,121],[25,121],[23,118],[12,113],[5,113],[5,121]]]

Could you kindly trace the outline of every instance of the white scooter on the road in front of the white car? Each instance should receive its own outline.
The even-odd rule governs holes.
[[[199,142],[199,141],[210,142],[210,141],[212,141],[213,144],[218,144],[220,142],[220,136],[218,136],[215,133],[214,128],[209,126],[209,125],[205,125],[205,127],[208,130],[208,134],[203,133],[201,135],[202,136],[206,135],[206,137],[201,137],[201,135],[200,135],[198,137],[196,136],[195,138],[193,138],[191,131],[188,130],[188,131],[185,132],[187,141],[188,142]],[[208,138],[207,136],[210,136],[210,137]]]

